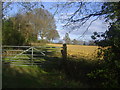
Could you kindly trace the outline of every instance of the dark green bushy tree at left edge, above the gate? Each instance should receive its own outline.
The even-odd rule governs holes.
[[[23,35],[16,31],[13,28],[13,22],[11,19],[3,20],[2,26],[2,44],[3,45],[23,45],[25,42],[25,38]]]

